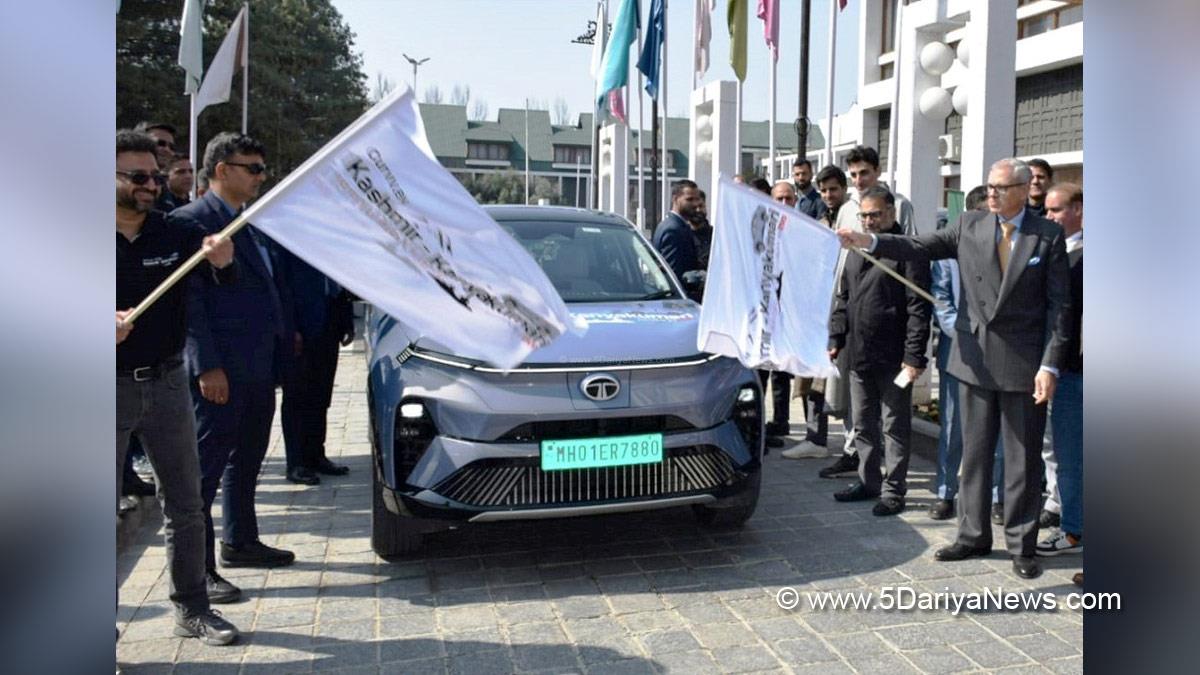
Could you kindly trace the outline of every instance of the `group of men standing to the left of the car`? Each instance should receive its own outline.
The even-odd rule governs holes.
[[[175,634],[227,645],[238,628],[211,605],[241,590],[217,560],[295,560],[262,542],[254,508],[276,387],[286,478],[316,485],[349,471],[325,456],[324,442],[338,346],[354,339],[354,321],[344,289],[253,225],[222,233],[268,177],[264,145],[215,136],[190,199],[192,163],[175,153],[174,133],[161,123],[116,132],[116,495],[120,508],[122,484],[140,480],[126,458],[143,452],[163,510]],[[197,251],[204,262],[132,319]]]

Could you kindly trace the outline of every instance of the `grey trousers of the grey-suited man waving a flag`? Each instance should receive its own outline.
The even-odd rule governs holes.
[[[962,468],[959,536],[968,546],[991,546],[991,480],[996,435],[1004,446],[1004,543],[1013,555],[1032,556],[1042,508],[1042,435],[1046,406],[1030,392],[996,392],[959,382]]]

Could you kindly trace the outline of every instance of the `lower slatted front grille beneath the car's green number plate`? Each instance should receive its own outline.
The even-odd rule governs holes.
[[[540,507],[686,495],[733,476],[728,455],[714,446],[670,448],[661,462],[542,471],[536,458],[474,461],[433,491],[476,507]]]

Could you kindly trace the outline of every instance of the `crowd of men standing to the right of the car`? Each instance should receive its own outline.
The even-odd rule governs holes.
[[[874,148],[853,148],[846,169],[827,166],[814,179],[811,162],[799,159],[791,180],[737,179],[834,229],[847,250],[880,258],[842,252],[828,345],[838,375],[799,380],[803,440],[780,454],[828,456],[828,419],[841,417],[842,447],[818,474],[856,472],[835,500],[874,500],[878,516],[901,513],[912,387],[928,366],[932,318],[941,429],[929,518],[958,514],[955,542],[935,558],[990,554],[996,524],[1014,573],[1033,579],[1038,556],[1084,546],[1082,189],[1055,184],[1044,160],[1001,160],[988,184],[965,196],[956,222],[918,234],[912,204],[880,180]],[[690,180],[674,183],[655,249],[679,279],[694,279],[707,268],[696,251],[710,239],[703,193]],[[760,380],[773,401],[767,446],[782,448],[792,376],[763,370]]]

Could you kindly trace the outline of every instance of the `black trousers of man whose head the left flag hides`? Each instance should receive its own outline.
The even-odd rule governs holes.
[[[325,416],[337,375],[338,335],[328,322],[311,344],[305,344],[295,371],[283,382],[280,422],[287,467],[313,468],[325,459]]]

